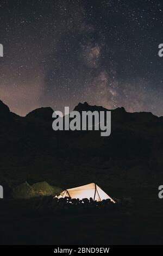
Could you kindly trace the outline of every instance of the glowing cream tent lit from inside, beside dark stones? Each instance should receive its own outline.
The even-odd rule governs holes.
[[[108,196],[99,186],[95,183],[90,183],[80,187],[68,188],[61,192],[58,198],[71,197],[71,198],[79,198],[80,200],[87,198],[92,198],[93,201],[97,200],[97,202],[102,201],[103,199],[110,199],[111,202],[115,203],[111,197]]]

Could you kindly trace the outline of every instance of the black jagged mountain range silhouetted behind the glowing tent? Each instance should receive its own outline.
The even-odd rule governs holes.
[[[75,111],[107,111],[79,103]],[[0,101],[1,184],[46,180],[60,187],[95,181],[143,183],[159,179],[163,159],[163,118],[111,109],[111,135],[100,131],[53,131],[49,107],[19,117]],[[6,182],[7,180],[7,182]],[[80,180],[80,183],[79,183]]]

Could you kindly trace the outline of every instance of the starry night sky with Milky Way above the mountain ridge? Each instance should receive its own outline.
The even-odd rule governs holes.
[[[0,1],[0,99],[163,115],[162,0]]]

